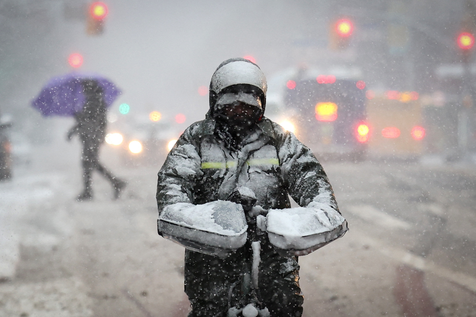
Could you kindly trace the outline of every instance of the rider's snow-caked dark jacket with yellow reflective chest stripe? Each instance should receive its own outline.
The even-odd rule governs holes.
[[[214,134],[207,115],[190,125],[159,172],[159,213],[167,205],[227,200],[246,186],[263,209],[289,208],[288,194],[302,207],[333,208],[337,203],[327,175],[314,154],[296,136],[263,117],[237,152]]]

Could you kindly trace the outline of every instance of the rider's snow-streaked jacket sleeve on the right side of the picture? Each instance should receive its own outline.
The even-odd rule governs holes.
[[[294,134],[279,130],[278,157],[289,195],[301,207],[339,212],[329,179],[316,156]]]

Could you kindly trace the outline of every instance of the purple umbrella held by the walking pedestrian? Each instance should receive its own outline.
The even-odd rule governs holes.
[[[45,116],[65,115],[71,116],[80,112],[86,101],[83,94],[82,81],[96,80],[103,90],[106,106],[110,106],[119,96],[120,90],[109,79],[99,75],[84,75],[71,73],[54,77],[43,87],[40,95],[31,102],[31,105],[40,110]]]

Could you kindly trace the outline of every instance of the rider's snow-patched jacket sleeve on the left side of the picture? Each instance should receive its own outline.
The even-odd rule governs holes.
[[[167,205],[194,201],[193,187],[202,172],[198,144],[193,140],[192,130],[193,126],[190,126],[180,136],[159,171],[156,196],[159,215]]]

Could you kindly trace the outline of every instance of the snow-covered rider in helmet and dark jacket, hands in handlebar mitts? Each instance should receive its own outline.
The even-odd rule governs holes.
[[[314,154],[264,116],[266,91],[255,63],[221,63],[211,79],[205,120],[185,130],[158,174],[159,234],[187,248],[189,317],[301,316],[293,254],[307,254],[347,230]],[[302,208],[289,209],[289,195]],[[300,249],[302,239],[289,240],[309,251],[284,254],[282,211],[294,212],[285,214],[289,219],[311,215],[325,226],[310,236],[322,231],[327,238],[306,240]]]

